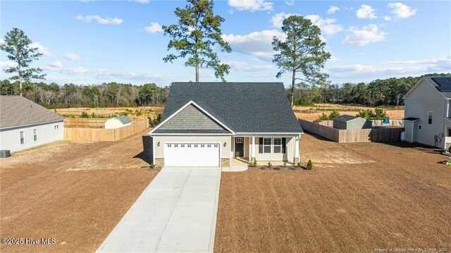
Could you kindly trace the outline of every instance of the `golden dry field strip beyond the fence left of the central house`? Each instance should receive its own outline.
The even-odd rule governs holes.
[[[62,116],[80,116],[82,112],[86,112],[89,116],[92,113],[97,116],[110,117],[120,114],[127,114],[132,118],[154,118],[159,113],[163,113],[164,107],[161,106],[139,106],[139,107],[108,107],[108,108],[61,108],[56,109],[56,113]]]

